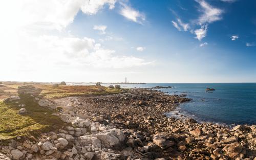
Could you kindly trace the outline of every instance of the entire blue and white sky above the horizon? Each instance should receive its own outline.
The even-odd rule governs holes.
[[[0,2],[0,81],[256,82],[256,1]]]

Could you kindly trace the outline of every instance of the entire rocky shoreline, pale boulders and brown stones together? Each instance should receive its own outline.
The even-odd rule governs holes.
[[[44,102],[42,107],[61,107],[55,116],[68,126],[34,139],[10,140],[1,146],[1,160],[256,159],[255,125],[229,129],[167,118],[164,113],[189,101],[183,96],[123,89],[120,94],[37,101]]]

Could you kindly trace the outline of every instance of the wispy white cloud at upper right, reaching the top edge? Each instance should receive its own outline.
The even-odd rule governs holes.
[[[204,0],[196,0],[196,2],[200,4],[201,9],[199,11],[202,12],[202,15],[197,19],[198,24],[202,25],[222,19],[223,10],[209,5]]]

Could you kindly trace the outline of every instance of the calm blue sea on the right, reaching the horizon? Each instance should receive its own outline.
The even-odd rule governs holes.
[[[103,84],[110,85],[110,84]],[[199,122],[214,122],[226,125],[256,124],[256,83],[146,83],[120,84],[124,88],[148,88],[173,86],[158,89],[169,95],[185,94],[190,102],[182,103],[167,116],[185,115]],[[205,92],[206,87],[215,88]]]

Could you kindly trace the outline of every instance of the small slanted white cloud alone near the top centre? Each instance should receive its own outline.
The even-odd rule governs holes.
[[[120,11],[120,14],[125,18],[137,22],[138,24],[143,24],[143,22],[146,20],[143,13],[140,13],[139,11],[124,4],[122,4],[122,6],[123,7]]]

